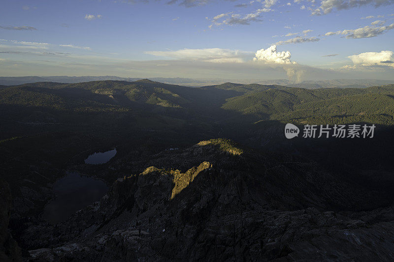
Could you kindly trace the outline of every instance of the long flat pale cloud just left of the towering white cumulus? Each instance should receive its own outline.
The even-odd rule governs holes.
[[[229,50],[221,48],[206,48],[206,49],[181,49],[177,51],[148,51],[145,54],[175,58],[186,60],[199,60],[214,63],[239,63],[243,62],[244,58],[251,55],[252,52],[242,52],[238,50]]]

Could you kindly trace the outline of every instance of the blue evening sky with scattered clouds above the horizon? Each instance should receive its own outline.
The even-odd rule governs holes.
[[[7,0],[0,76],[394,80],[394,0]]]

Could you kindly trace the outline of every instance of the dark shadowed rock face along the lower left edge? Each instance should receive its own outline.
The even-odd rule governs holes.
[[[11,193],[8,184],[0,180],[0,261],[22,261],[21,250],[8,230]]]

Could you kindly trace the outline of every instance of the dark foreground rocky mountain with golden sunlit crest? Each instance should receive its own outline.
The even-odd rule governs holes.
[[[100,202],[66,222],[26,229],[26,259],[394,260],[394,207],[387,200],[376,208],[384,192],[313,162],[225,140],[151,159],[144,172],[116,180]]]

